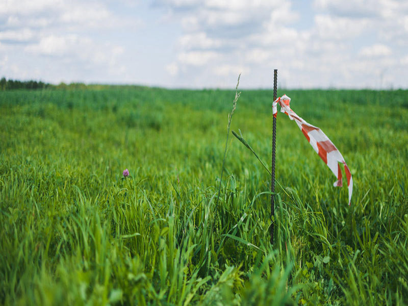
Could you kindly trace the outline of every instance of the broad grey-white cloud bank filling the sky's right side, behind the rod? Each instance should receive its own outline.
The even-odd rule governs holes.
[[[245,80],[253,80],[249,86],[270,87],[270,71],[278,68],[289,87],[376,87],[378,75],[396,68],[408,45],[408,5],[398,1],[316,0],[310,11],[287,1],[159,0],[156,5],[180,20],[175,63],[184,72],[179,77],[194,71],[213,86],[242,70]],[[305,19],[309,23],[300,27]]]

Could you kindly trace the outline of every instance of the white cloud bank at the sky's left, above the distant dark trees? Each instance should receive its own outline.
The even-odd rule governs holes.
[[[119,15],[103,2],[3,0],[0,58],[9,60],[2,72],[11,77],[46,78],[55,69],[54,82],[67,74],[74,81],[90,73],[94,73],[93,79],[101,75],[112,78],[126,71],[121,61],[125,48],[123,41],[111,42],[104,34],[140,27],[140,19]]]

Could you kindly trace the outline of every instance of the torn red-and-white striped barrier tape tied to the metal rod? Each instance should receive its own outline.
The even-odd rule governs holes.
[[[348,186],[348,205],[350,205],[351,195],[353,193],[353,179],[351,177],[350,169],[344,161],[344,158],[341,155],[340,151],[336,148],[333,142],[328,139],[326,134],[324,134],[323,131],[319,129],[319,127],[309,124],[291,110],[290,97],[288,97],[287,95],[283,95],[282,97],[278,97],[275,101],[273,101],[272,113],[274,117],[276,117],[277,115],[277,104],[281,106],[282,113],[287,114],[291,120],[295,120],[304,137],[306,137],[316,153],[330,168],[331,172],[336,175],[337,181],[334,183],[335,187],[343,186],[343,176],[339,163],[342,163],[344,165]]]

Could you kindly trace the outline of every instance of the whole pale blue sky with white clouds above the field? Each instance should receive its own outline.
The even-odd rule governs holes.
[[[408,1],[0,0],[0,78],[408,88]]]

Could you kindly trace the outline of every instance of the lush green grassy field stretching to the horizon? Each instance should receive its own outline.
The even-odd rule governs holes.
[[[271,246],[270,175],[231,133],[217,203],[235,91],[0,91],[0,304],[408,304],[408,91],[284,93],[354,191],[279,113]],[[242,90],[231,124],[269,167],[271,105]]]

